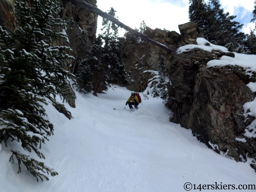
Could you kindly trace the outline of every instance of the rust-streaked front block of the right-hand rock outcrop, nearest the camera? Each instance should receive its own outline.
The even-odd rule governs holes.
[[[198,140],[208,147],[212,147],[211,143],[218,145],[216,152],[226,153],[236,161],[246,159],[249,152],[243,142],[236,140],[244,138],[246,128],[243,105],[255,97],[245,84],[248,80],[238,66],[199,68],[187,121],[187,128]]]

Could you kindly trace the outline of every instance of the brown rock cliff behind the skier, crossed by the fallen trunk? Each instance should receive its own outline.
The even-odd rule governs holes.
[[[172,49],[177,49],[180,45],[180,34],[175,31],[158,28],[153,30],[147,27],[144,34]],[[133,34],[125,34],[122,41],[124,43],[123,62],[127,79],[130,82],[127,88],[136,92],[143,92],[148,86],[148,80],[155,76],[152,71],[157,70],[159,52],[164,56],[165,63],[168,63],[167,58],[170,53]]]

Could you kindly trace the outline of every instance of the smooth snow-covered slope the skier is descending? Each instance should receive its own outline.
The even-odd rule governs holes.
[[[130,91],[114,89],[99,98],[76,92],[76,108],[66,105],[71,120],[45,107],[55,131],[42,146],[44,162],[59,173],[50,181],[36,182],[24,168],[17,174],[17,164],[8,161],[9,149],[0,145],[0,191],[170,192],[185,191],[186,182],[196,188],[215,182],[255,184],[249,164],[215,153],[191,130],[169,122],[171,111],[160,98],[143,99],[138,111],[128,112]]]

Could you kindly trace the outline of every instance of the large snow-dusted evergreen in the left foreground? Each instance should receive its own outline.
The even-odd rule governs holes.
[[[52,46],[56,39],[67,38],[60,33],[65,23],[54,18],[60,12],[57,0],[26,0],[16,2],[16,30],[9,33],[0,27],[0,143],[10,141],[44,158],[41,144],[53,134],[53,125],[45,119],[42,104],[58,104],[56,95],[64,100],[72,98],[68,77],[64,71],[73,57],[69,47]],[[55,176],[44,163],[12,150],[10,161],[16,157],[21,165],[36,177],[49,180],[44,173]]]

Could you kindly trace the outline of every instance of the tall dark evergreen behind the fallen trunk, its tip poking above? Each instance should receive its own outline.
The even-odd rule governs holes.
[[[108,14],[118,18],[113,7],[108,10]],[[102,26],[101,30],[104,30],[104,32],[98,36],[91,47],[91,57],[97,60],[97,65],[90,64],[92,70],[96,70],[98,73],[93,91],[95,96],[97,96],[100,84],[128,83],[122,60],[121,50],[123,45],[118,37],[118,26],[104,18]]]

